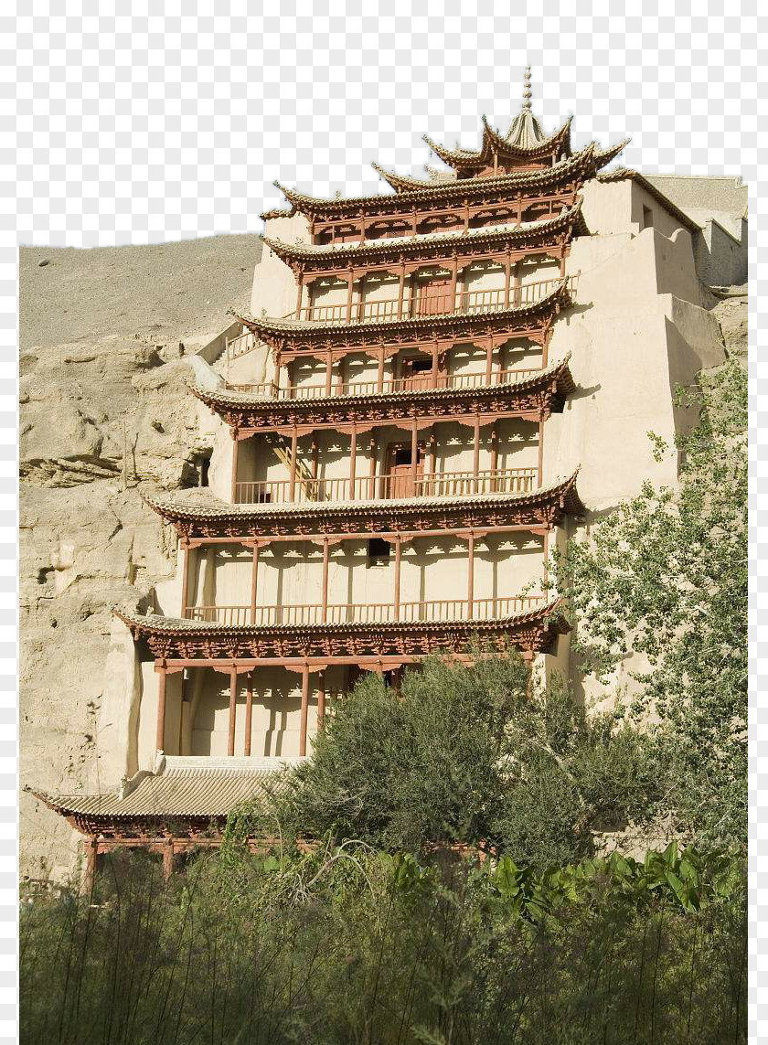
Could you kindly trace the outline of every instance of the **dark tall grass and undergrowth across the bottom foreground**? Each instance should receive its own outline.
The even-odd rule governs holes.
[[[25,907],[22,1041],[720,1045],[745,1037],[741,899],[610,882],[532,919],[467,862],[226,847],[165,884],[111,859]],[[530,914],[530,912],[529,912]]]

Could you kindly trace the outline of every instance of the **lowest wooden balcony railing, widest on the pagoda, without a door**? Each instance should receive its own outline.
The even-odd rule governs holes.
[[[187,606],[183,618],[229,627],[302,627],[322,624],[410,624],[430,621],[493,621],[544,605],[543,595],[424,602],[322,603],[279,606]]]

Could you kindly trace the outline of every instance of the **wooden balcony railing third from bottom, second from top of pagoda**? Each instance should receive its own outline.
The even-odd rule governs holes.
[[[250,334],[253,338],[253,334]],[[487,385],[514,385],[517,381],[528,380],[541,373],[540,367],[530,369],[511,368],[508,370],[494,370],[490,378],[486,370],[476,373],[459,374],[438,374],[435,384],[432,375],[421,373],[412,377],[393,377],[379,382],[372,381],[344,381],[341,385],[332,385],[330,393],[325,381],[319,385],[289,385],[287,388],[278,388],[274,381],[266,381],[256,385],[228,385],[230,392],[246,392],[253,395],[262,396],[265,399],[323,399],[330,396],[366,396],[366,395],[394,395],[398,392],[421,392],[432,389],[469,389],[483,388]]]

